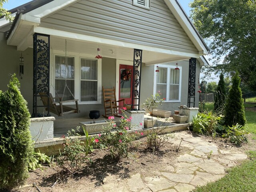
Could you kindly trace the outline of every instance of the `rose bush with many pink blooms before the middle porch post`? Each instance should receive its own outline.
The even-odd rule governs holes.
[[[119,161],[120,158],[128,156],[131,142],[136,138],[136,134],[128,134],[132,117],[121,117],[120,123],[114,122],[114,116],[108,117],[108,125],[104,127],[104,133],[95,138],[95,142],[100,148],[108,150],[112,160]],[[116,131],[113,131],[115,129]],[[143,133],[141,133],[143,135]]]

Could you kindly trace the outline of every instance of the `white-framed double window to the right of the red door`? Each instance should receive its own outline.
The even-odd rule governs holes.
[[[154,93],[159,93],[166,102],[180,102],[182,67],[179,66],[179,70],[175,70],[175,67],[158,64],[159,72],[155,72]]]

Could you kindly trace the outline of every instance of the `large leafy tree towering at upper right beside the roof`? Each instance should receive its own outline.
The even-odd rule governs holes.
[[[190,7],[214,60],[204,73],[238,71],[256,90],[256,0],[194,0]]]

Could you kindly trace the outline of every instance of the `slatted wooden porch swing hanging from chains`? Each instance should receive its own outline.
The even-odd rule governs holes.
[[[44,104],[44,108],[46,111],[48,111],[48,96],[46,93],[40,92],[39,93],[41,100]],[[59,99],[59,102],[55,102],[54,99]],[[67,100],[67,101],[62,101],[62,98],[53,98],[52,94],[50,94],[50,103],[49,103],[49,110],[50,112],[60,116],[67,115],[67,114],[72,114],[72,113],[79,113],[80,111],[78,110],[78,99],[74,100]],[[72,108],[69,106],[63,105],[63,103],[66,102],[76,102],[76,108]],[[56,105],[59,104],[59,105]]]

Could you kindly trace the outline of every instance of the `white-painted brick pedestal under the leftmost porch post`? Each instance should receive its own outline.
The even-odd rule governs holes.
[[[30,134],[33,141],[53,140],[54,117],[30,118]]]

